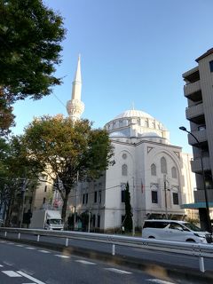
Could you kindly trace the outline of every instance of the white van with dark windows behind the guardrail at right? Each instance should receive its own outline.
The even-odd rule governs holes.
[[[142,238],[165,241],[212,242],[208,232],[185,221],[146,220],[142,229]]]

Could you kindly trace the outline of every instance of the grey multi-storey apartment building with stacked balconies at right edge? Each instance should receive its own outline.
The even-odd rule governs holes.
[[[195,173],[197,186],[191,208],[199,209],[201,226],[207,230],[209,214],[205,192],[210,218],[213,219],[213,48],[195,61],[197,67],[183,74],[184,94],[188,102],[185,116],[190,122],[191,132],[188,133],[188,143],[193,146],[192,171]]]

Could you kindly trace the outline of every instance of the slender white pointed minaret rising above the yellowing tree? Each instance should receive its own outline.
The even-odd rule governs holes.
[[[82,93],[82,75],[81,75],[81,59],[78,56],[77,70],[73,82],[72,99],[67,101],[67,113],[73,121],[81,118],[84,110],[84,104],[81,101]]]

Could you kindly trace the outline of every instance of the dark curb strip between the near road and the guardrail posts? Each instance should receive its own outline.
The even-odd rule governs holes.
[[[141,270],[154,277],[161,277],[163,280],[186,280],[189,283],[200,283],[207,284],[213,282],[213,272],[200,272],[192,268],[185,268],[185,266],[178,265],[174,267],[171,264],[162,264],[157,261],[143,260],[133,256],[112,256],[109,253],[101,252],[89,248],[78,248],[78,247],[65,247],[64,245],[49,243],[45,241],[31,241],[31,240],[16,240],[13,238],[1,237],[4,241],[13,241],[20,243],[28,243],[38,248],[48,248],[63,252],[68,256],[83,256],[85,258],[97,259],[107,264],[117,264],[132,269]]]

